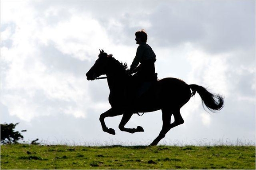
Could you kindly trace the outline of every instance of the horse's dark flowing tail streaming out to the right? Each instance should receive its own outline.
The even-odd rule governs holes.
[[[196,94],[196,92],[200,95],[205,106],[211,111],[216,112],[220,111],[224,106],[224,97],[219,94],[212,94],[207,91],[204,87],[199,85],[189,85],[189,88],[192,90],[191,97]],[[204,107],[205,109],[205,107]]]

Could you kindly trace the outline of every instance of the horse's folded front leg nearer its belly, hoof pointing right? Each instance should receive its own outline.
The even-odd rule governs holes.
[[[125,112],[122,116],[122,120],[119,124],[119,129],[121,131],[127,131],[129,133],[135,133],[139,131],[144,131],[144,129],[141,126],[138,126],[136,129],[135,128],[125,128],[124,126],[127,124],[127,122],[130,120],[131,116],[133,115],[132,112]]]

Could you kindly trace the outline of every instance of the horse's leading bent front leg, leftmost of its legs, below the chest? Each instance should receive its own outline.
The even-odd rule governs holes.
[[[118,115],[122,115],[122,112],[119,112],[117,110],[114,110],[113,108],[110,108],[108,111],[102,113],[99,116],[99,121],[101,123],[102,126],[102,130],[106,131],[107,133],[111,134],[111,135],[115,135],[115,131],[112,128],[107,128],[104,119],[106,117],[114,117],[114,116],[118,116]]]

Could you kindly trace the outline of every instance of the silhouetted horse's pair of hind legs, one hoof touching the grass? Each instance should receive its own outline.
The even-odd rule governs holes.
[[[174,122],[171,124],[171,116],[174,116]],[[150,144],[150,146],[155,146],[158,142],[165,137],[165,134],[175,126],[179,124],[183,124],[184,120],[181,117],[181,113],[179,110],[174,111],[173,113],[169,109],[162,109],[162,120],[163,120],[163,127],[160,131],[158,137],[154,139],[154,141]]]

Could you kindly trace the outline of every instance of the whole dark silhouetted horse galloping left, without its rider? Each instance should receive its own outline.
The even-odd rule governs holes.
[[[154,112],[161,109],[162,129],[150,146],[157,145],[170,129],[184,123],[180,109],[196,92],[202,99],[204,109],[206,106],[209,111],[217,112],[224,106],[223,96],[210,93],[199,85],[188,85],[181,79],[173,77],[158,79],[152,83],[150,89],[140,97],[134,99],[130,95],[134,89],[131,88],[131,74],[127,69],[126,63],[119,62],[112,54],[108,55],[104,50],[100,50],[95,64],[86,73],[87,80],[91,81],[99,79],[101,75],[106,75],[110,89],[109,103],[111,105],[111,108],[99,117],[102,130],[115,135],[113,128],[107,128],[104,119],[106,117],[122,115],[122,120],[118,126],[121,131],[129,133],[142,132],[144,129],[141,126],[137,128],[125,128],[131,116],[134,113]],[[171,123],[172,115],[174,117],[173,123]]]

